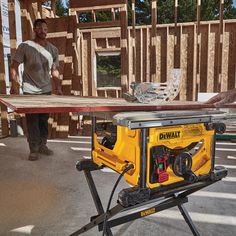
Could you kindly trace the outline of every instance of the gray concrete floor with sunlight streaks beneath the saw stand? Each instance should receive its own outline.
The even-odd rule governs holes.
[[[1,236],[69,235],[97,214],[84,174],[75,169],[77,160],[90,155],[90,139],[49,140],[49,147],[54,150],[53,156],[30,162],[24,137],[0,139]],[[229,146],[227,148],[230,149]],[[234,155],[219,150],[217,162],[229,167],[227,181],[199,191],[185,204],[201,235],[236,235]],[[95,171],[93,177],[106,207],[118,175],[104,170]],[[117,193],[127,187],[122,180],[112,205],[116,203]],[[117,226],[112,232],[116,236],[192,235],[176,208]],[[83,235],[102,233],[93,228]]]

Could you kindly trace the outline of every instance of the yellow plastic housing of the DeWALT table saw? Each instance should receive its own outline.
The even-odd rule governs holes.
[[[117,125],[117,137],[113,149],[102,145],[98,141],[97,134],[94,133],[93,162],[99,166],[107,166],[118,173],[121,173],[128,163],[133,164],[134,168],[124,177],[129,184],[137,186],[140,178],[140,132],[140,129],[131,130]],[[207,130],[204,123],[148,128],[146,186],[156,188],[183,181],[183,177],[174,173],[173,162],[178,155],[181,155],[181,152],[186,152],[189,147],[193,147],[191,148],[193,153],[190,153],[191,171],[196,176],[209,174],[213,161],[213,143],[214,130]],[[195,144],[197,144],[197,148]],[[166,173],[168,179],[166,181],[151,179],[155,159],[152,150],[156,147],[164,147],[167,150]]]

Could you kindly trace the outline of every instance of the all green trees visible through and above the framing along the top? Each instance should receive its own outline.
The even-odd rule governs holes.
[[[136,0],[136,24],[150,25],[151,24],[151,0]],[[128,0],[128,22],[131,25],[131,0]],[[178,7],[178,22],[192,22],[197,19],[197,0],[179,0]],[[63,6],[62,1],[57,3],[58,15],[67,14],[67,6]],[[175,0],[157,0],[157,23],[168,24],[174,22]],[[218,20],[220,14],[219,0],[202,0],[201,1],[201,20]],[[108,11],[98,12],[96,14],[97,21],[107,21],[111,19],[111,13]],[[233,0],[224,1],[224,19],[236,19],[236,8],[233,5]],[[81,22],[91,22],[92,16],[89,13],[80,14]]]

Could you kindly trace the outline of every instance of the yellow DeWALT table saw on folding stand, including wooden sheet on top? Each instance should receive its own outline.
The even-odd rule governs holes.
[[[199,102],[136,104],[46,95],[1,96],[0,101],[19,113],[70,111],[91,116],[92,159],[79,161],[76,168],[84,171],[98,215],[71,235],[94,226],[112,235],[114,226],[173,206],[178,206],[193,235],[200,235],[183,204],[191,193],[227,175],[224,167],[215,166],[215,135],[224,133],[224,121],[235,119],[234,115]],[[106,121],[98,123],[97,118]],[[106,211],[91,174],[104,167],[129,184],[119,192],[117,205],[110,209],[108,204]],[[127,213],[112,219],[122,212]]]

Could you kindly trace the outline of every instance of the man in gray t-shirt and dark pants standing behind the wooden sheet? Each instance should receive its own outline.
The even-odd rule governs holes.
[[[10,93],[19,91],[18,67],[24,64],[22,90],[24,94],[50,95],[62,94],[59,79],[58,50],[46,40],[47,23],[43,19],[34,22],[34,40],[19,45],[11,65],[12,86]],[[40,99],[40,98],[39,98]],[[26,114],[29,143],[29,160],[35,161],[40,154],[52,155],[47,147],[49,114]]]

